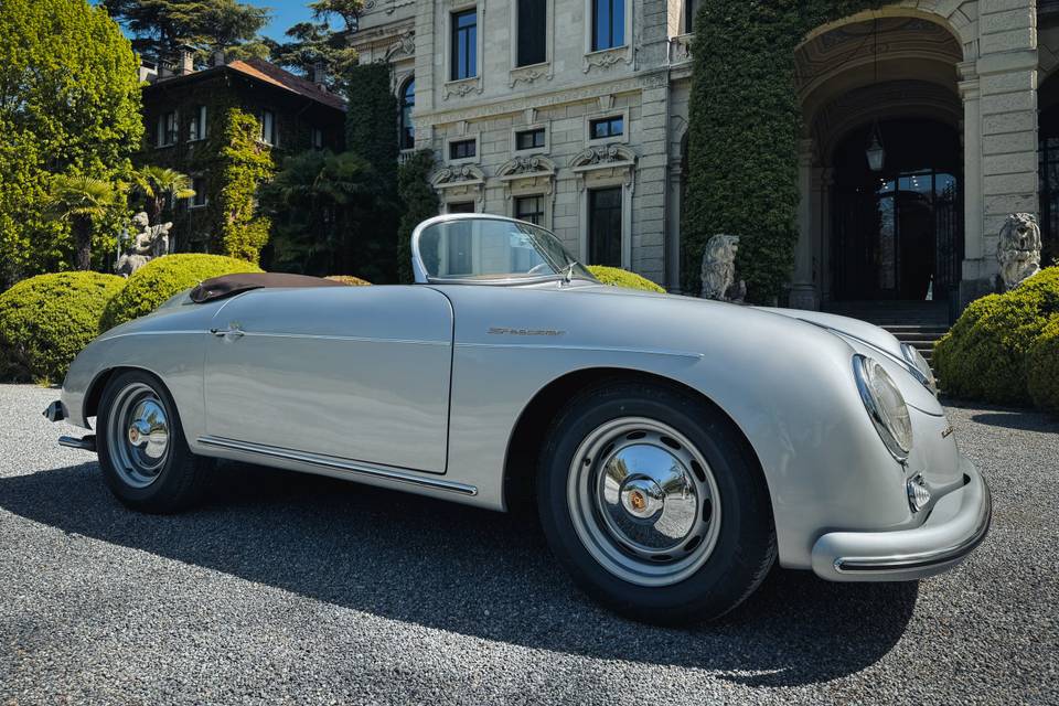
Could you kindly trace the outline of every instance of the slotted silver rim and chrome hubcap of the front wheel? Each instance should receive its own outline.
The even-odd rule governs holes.
[[[589,434],[567,495],[593,558],[633,584],[684,580],[717,543],[720,505],[709,466],[676,429],[653,419],[614,419]]]

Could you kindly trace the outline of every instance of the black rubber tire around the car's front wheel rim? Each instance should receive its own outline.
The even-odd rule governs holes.
[[[718,526],[714,530],[708,524],[704,525],[712,533],[712,549],[708,553],[705,548],[695,549],[704,552],[702,558],[694,559],[688,555],[686,558],[689,564],[683,569],[686,576],[674,569],[673,576],[666,579],[673,581],[668,585],[641,585],[625,580],[606,568],[597,558],[599,550],[593,555],[589,548],[592,542],[586,542],[578,534],[578,526],[582,533],[586,532],[585,527],[590,522],[589,515],[576,507],[571,509],[571,503],[579,502],[571,500],[570,493],[578,492],[581,484],[588,484],[587,496],[591,498],[591,493],[596,492],[591,490],[591,483],[598,482],[600,484],[596,488],[602,489],[603,483],[612,482],[602,478],[601,471],[593,467],[603,463],[601,459],[607,458],[607,453],[617,452],[608,451],[613,448],[611,443],[610,447],[602,448],[596,459],[586,457],[587,460],[579,460],[579,467],[585,466],[588,469],[584,472],[584,483],[581,472],[573,468],[575,454],[586,452],[588,447],[582,443],[587,443],[586,439],[591,438],[593,430],[607,425],[620,425],[622,419],[632,418],[653,420],[680,432],[694,447],[693,451],[697,450],[697,458],[708,463],[707,470],[716,481],[710,488],[716,489],[719,494],[720,513],[713,515],[718,518]],[[620,427],[618,429],[621,430]],[[633,435],[627,438],[633,438]],[[663,437],[659,438],[664,440]],[[621,442],[635,443],[624,440]],[[758,463],[750,453],[752,451],[740,432],[724,413],[707,400],[676,386],[622,381],[607,381],[593,385],[570,399],[557,415],[541,456],[537,504],[552,550],[586,593],[629,618],[661,624],[686,624],[724,616],[757,589],[768,575],[777,555],[775,528],[768,489]],[[571,481],[571,478],[577,480]],[[630,471],[625,479],[625,483],[634,480],[634,473]],[[624,492],[619,493],[619,499],[625,496],[622,494]],[[621,505],[622,502],[627,502],[625,507],[637,509],[634,504],[630,505],[622,500],[606,506],[602,505],[602,491],[597,495],[600,500],[595,502],[600,503],[601,509],[596,509],[596,521],[603,527],[605,536],[607,521],[602,518],[603,514],[627,512]],[[684,496],[686,498],[686,493]],[[707,501],[696,502],[698,505],[693,514],[697,522],[698,515],[705,517],[708,511],[699,510],[705,507]],[[575,521],[575,515],[584,518]],[[659,516],[655,515],[655,518]],[[613,532],[611,536],[614,536]],[[621,546],[620,541],[614,544],[618,550],[632,553],[627,546]],[[688,542],[685,546],[692,544]],[[640,557],[633,556],[632,560],[638,561]],[[650,561],[645,561],[644,566],[651,566]],[[664,561],[663,569],[660,570],[665,570]]]

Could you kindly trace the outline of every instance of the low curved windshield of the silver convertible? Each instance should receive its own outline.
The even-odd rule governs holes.
[[[595,280],[555,235],[521,221],[442,217],[422,227],[416,248],[430,280]]]

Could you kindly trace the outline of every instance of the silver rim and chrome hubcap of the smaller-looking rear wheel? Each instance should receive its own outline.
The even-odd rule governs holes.
[[[148,385],[133,383],[114,400],[107,419],[107,447],[115,469],[128,485],[147,488],[169,456],[165,407]]]

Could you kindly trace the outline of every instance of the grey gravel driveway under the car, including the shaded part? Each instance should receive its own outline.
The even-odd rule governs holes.
[[[229,467],[171,517],[58,448],[56,391],[0,386],[0,704],[1059,703],[1059,422],[951,407],[994,524],[920,584],[774,571],[716,624],[581,596],[539,530]]]

